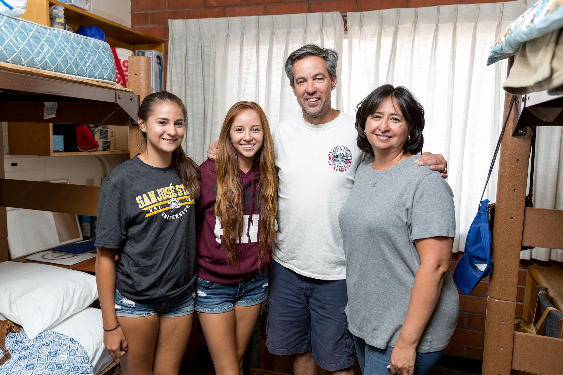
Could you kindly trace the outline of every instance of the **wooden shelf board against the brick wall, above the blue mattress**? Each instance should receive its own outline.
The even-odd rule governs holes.
[[[57,0],[49,0],[50,6],[55,4],[60,5],[65,8],[65,20],[66,23],[77,27],[84,26],[97,26],[102,31],[106,37],[122,40],[129,44],[160,44],[164,43],[162,39],[152,37],[149,34],[141,33],[141,31],[128,28],[118,24],[117,22],[106,20],[100,16],[96,16],[93,13],[82,10],[70,4],[61,3]],[[76,30],[74,30],[76,31]]]

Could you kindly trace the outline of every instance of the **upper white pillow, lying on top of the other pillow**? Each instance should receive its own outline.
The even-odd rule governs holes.
[[[32,340],[98,298],[94,276],[46,264],[2,262],[0,285],[0,314]]]

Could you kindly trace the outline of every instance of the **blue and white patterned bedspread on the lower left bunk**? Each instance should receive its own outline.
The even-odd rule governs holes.
[[[44,331],[33,340],[20,333],[6,336],[6,348],[12,356],[0,366],[2,375],[93,375],[84,347],[74,338]]]

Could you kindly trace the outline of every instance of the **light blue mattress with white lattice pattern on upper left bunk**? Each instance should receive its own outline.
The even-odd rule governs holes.
[[[108,43],[1,14],[0,61],[115,82]]]

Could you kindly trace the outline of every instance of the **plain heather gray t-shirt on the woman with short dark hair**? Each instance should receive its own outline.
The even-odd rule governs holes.
[[[395,346],[406,318],[421,265],[414,240],[455,236],[452,189],[437,171],[414,164],[417,157],[386,170],[374,170],[373,158],[362,162],[338,216],[350,332],[381,349]],[[458,315],[459,296],[448,270],[417,351],[444,349]]]

